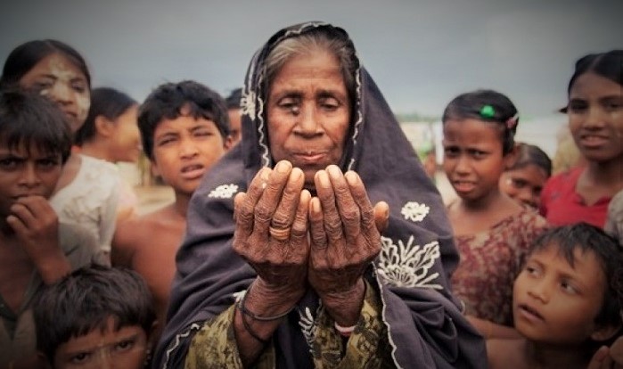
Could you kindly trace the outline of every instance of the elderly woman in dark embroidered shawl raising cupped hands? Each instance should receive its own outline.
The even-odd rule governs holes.
[[[156,365],[485,367],[439,193],[347,33],[277,32],[242,112],[193,195]]]

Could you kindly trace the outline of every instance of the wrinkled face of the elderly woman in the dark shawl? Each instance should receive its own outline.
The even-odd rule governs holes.
[[[344,151],[350,109],[340,64],[331,53],[297,55],[276,74],[267,102],[273,159],[290,160],[314,188],[316,171],[338,164]]]

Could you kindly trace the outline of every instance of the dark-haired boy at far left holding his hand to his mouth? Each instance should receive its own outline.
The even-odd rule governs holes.
[[[39,94],[0,90],[0,368],[37,367],[32,300],[44,284],[103,262],[94,237],[59,224],[48,202],[71,130]]]

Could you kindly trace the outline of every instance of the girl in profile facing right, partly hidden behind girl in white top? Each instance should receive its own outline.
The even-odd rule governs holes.
[[[85,124],[76,133],[80,153],[112,163],[138,161],[141,135],[137,114],[138,102],[127,94],[110,87],[94,88]],[[138,202],[127,181],[119,185],[118,222],[132,217]]]

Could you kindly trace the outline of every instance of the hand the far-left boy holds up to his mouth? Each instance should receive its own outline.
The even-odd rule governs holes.
[[[35,264],[59,251],[58,216],[43,196],[20,197],[6,222]]]

